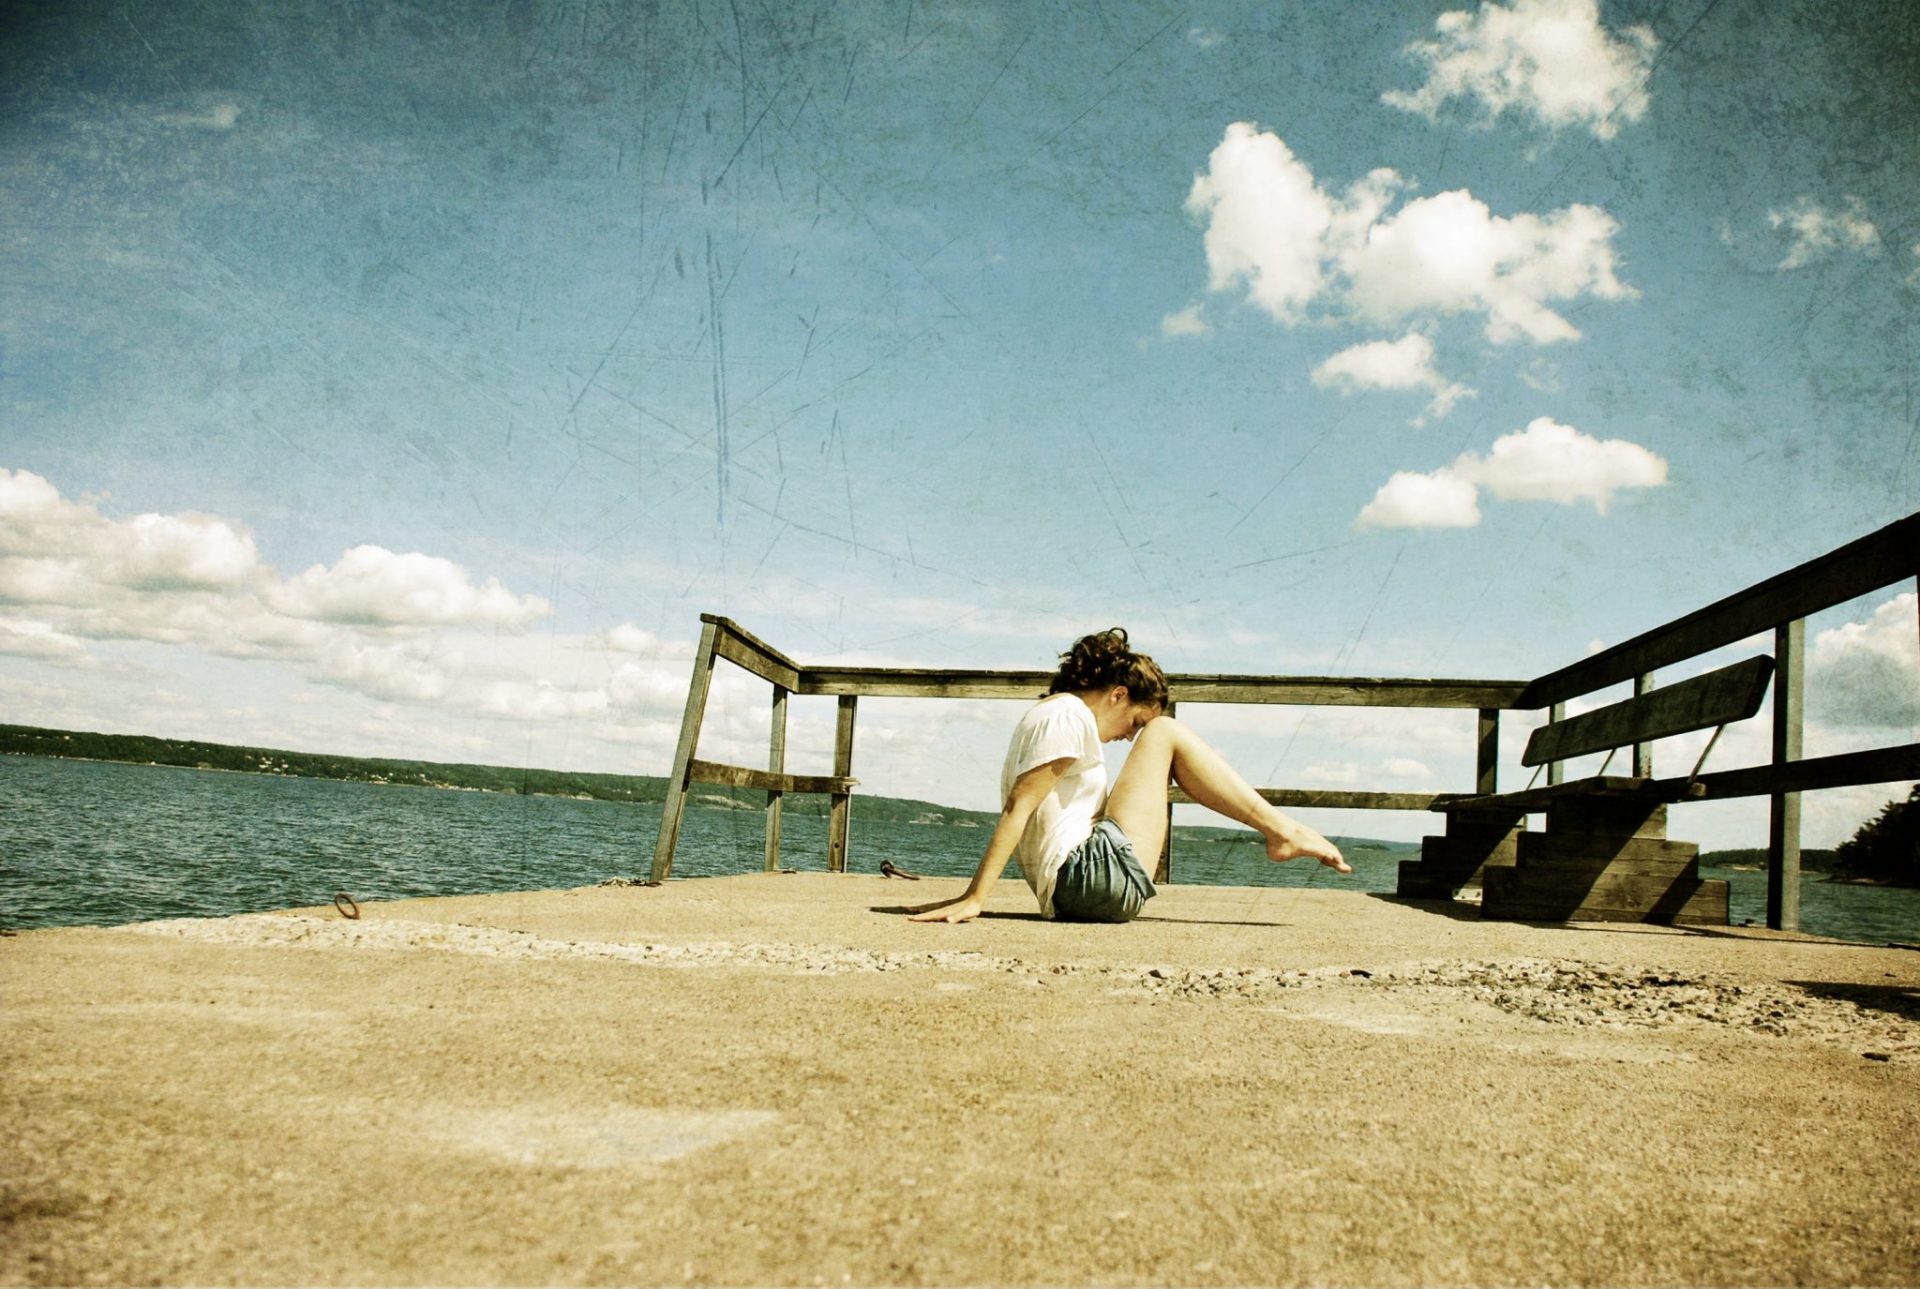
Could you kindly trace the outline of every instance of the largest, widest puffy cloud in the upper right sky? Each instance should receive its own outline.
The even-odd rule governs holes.
[[[1377,169],[1334,194],[1271,131],[1235,121],[1194,177],[1187,211],[1206,223],[1208,286],[1244,284],[1283,325],[1311,311],[1392,325],[1480,313],[1496,344],[1576,340],[1561,300],[1628,300],[1615,273],[1619,225],[1596,206],[1494,215],[1471,192],[1417,198]]]

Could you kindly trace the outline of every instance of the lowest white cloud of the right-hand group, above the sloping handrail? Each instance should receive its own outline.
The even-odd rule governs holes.
[[[1538,417],[1524,430],[1494,440],[1482,457],[1461,453],[1453,465],[1386,480],[1361,513],[1361,528],[1473,528],[1484,488],[1501,501],[1590,501],[1601,515],[1626,488],[1667,482],[1667,461],[1624,438],[1592,438],[1571,425]]]

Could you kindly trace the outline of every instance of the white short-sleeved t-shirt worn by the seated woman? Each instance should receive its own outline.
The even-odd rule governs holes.
[[[1092,826],[1106,807],[1106,757],[1100,755],[1100,726],[1075,693],[1052,693],[1033,707],[1014,726],[1014,742],[1006,747],[1000,766],[1000,803],[1014,795],[1014,780],[1037,765],[1071,757],[1073,765],[1027,820],[1027,830],[1014,847],[1020,872],[1025,874],[1041,912],[1054,916],[1054,878],[1068,853],[1092,836]]]

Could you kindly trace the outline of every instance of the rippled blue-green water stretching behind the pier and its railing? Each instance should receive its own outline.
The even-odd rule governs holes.
[[[645,876],[653,805],[509,797],[175,766],[0,755],[0,926],[115,924],[219,916],[355,899],[591,886]],[[881,859],[927,876],[968,876],[985,828],[862,820],[852,868]],[[676,878],[756,872],[758,811],[687,811]],[[1179,843],[1181,882],[1394,889],[1413,851],[1357,851],[1352,878],[1319,864],[1269,864],[1252,843]],[[826,820],[787,815],[781,863],[826,866]],[[1763,922],[1766,878],[1732,882],[1734,922]],[[1849,939],[1920,939],[1920,891],[1801,884],[1801,926]]]

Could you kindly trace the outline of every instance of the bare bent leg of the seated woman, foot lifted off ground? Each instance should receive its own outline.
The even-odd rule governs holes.
[[[1332,841],[1273,809],[1225,757],[1173,717],[1146,722],[1106,797],[1106,816],[1127,834],[1148,872],[1167,839],[1167,780],[1210,811],[1260,832],[1267,839],[1267,859],[1311,855],[1329,868],[1352,872]]]

